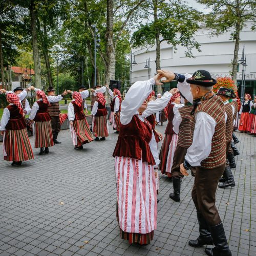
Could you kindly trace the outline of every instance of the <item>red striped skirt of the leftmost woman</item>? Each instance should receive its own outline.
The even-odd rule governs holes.
[[[27,161],[34,159],[27,129],[6,130],[3,141],[4,159],[6,161]]]

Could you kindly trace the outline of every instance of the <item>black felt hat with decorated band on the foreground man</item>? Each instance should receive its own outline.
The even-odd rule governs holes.
[[[187,83],[197,84],[197,86],[214,86],[217,81],[211,77],[210,73],[206,70],[197,70],[192,77],[188,78]]]

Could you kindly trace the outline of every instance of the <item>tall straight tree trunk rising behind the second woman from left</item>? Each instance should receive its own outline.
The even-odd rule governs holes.
[[[41,89],[41,63],[39,57],[39,49],[37,42],[37,32],[36,32],[36,13],[34,10],[34,0],[30,4],[30,29],[32,35],[32,49],[33,49],[33,60],[34,60],[34,69],[35,69],[35,87]]]

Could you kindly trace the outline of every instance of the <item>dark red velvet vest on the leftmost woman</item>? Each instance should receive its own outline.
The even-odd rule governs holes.
[[[19,113],[16,105],[9,105],[7,109],[10,111],[10,119],[5,126],[6,130],[22,130],[26,128],[25,119],[22,114]]]

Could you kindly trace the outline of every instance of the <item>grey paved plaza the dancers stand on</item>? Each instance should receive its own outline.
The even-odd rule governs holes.
[[[157,127],[164,133],[166,123]],[[119,236],[112,153],[118,135],[74,151],[69,130],[50,154],[11,167],[0,158],[0,255],[204,255],[191,199],[194,178],[181,183],[181,202],[169,199],[173,183],[160,176],[158,228],[150,245]],[[256,255],[256,138],[237,133],[236,187],[218,188],[217,207],[232,255]],[[32,146],[34,145],[30,137]],[[2,148],[2,143],[0,143]],[[2,151],[2,149],[1,149]]]

